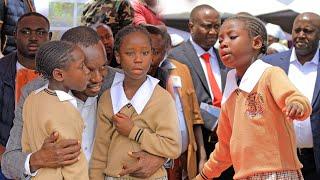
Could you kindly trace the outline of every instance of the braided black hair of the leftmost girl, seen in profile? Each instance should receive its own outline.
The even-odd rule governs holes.
[[[64,69],[73,60],[71,52],[77,46],[66,41],[50,41],[40,46],[36,55],[36,70],[46,79],[54,69]]]

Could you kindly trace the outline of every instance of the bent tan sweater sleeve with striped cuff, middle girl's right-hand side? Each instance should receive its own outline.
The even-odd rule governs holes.
[[[161,98],[161,103],[151,107],[154,108],[152,122],[156,124],[155,131],[135,125],[129,138],[140,143],[141,148],[150,154],[176,159],[180,156],[182,145],[175,104],[169,93],[157,98]]]

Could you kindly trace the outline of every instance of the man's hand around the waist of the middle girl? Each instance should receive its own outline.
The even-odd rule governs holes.
[[[135,164],[124,165],[120,176],[129,174],[136,178],[148,178],[154,174],[166,161],[165,158],[149,154],[144,151],[129,152],[129,155],[138,161]]]

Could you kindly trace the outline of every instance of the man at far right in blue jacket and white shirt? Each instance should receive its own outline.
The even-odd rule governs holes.
[[[320,178],[320,16],[302,13],[292,28],[293,49],[263,57],[281,67],[293,84],[312,105],[312,114],[305,121],[294,121],[298,157],[303,164],[304,179]]]

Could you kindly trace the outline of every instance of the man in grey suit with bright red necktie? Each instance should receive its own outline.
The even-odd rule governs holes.
[[[202,131],[208,157],[217,142],[213,133],[217,117],[208,113],[205,107],[213,105],[220,108],[226,80],[225,66],[213,47],[220,26],[221,18],[217,10],[209,5],[195,7],[189,19],[190,39],[172,49],[169,54],[169,57],[186,64],[190,69],[205,124]],[[232,179],[231,174],[227,179]]]

